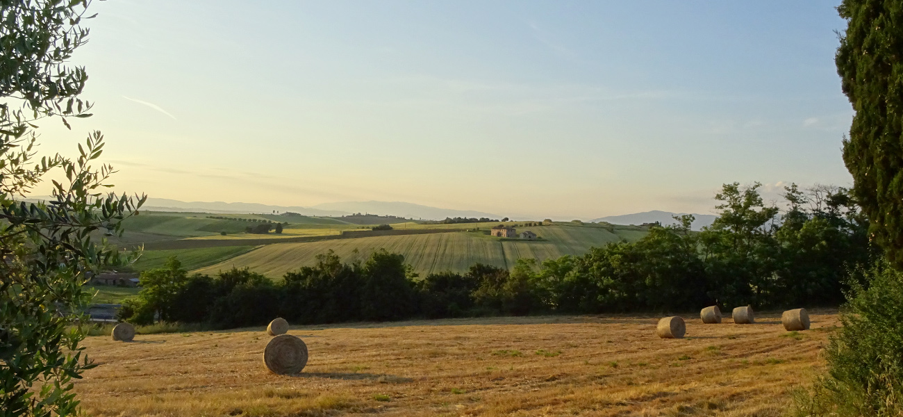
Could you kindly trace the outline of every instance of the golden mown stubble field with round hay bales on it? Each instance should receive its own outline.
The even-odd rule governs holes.
[[[839,322],[810,313],[799,333],[779,313],[752,325],[697,317],[684,339],[626,316],[293,327],[311,355],[297,376],[265,369],[263,328],[92,337],[98,367],[76,391],[97,416],[772,416],[823,371]]]

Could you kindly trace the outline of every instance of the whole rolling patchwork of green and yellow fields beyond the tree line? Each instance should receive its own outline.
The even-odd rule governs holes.
[[[288,225],[280,235],[246,234],[245,227],[259,224],[249,219],[282,221],[288,222]],[[339,236],[343,232],[368,230],[373,225],[361,224],[366,221],[393,223],[392,227],[396,230],[419,230],[424,234]],[[536,223],[504,223],[517,227],[518,233],[530,230],[541,238],[538,241],[521,241],[488,236],[489,229],[497,226],[498,222],[428,224],[377,216],[320,218],[276,214],[142,212],[139,216],[126,219],[126,235],[116,241],[124,247],[147,243],[149,249],[156,249],[145,250],[144,255],[132,265],[132,269],[139,272],[162,267],[167,258],[177,256],[182,266],[191,271],[217,273],[232,266],[247,266],[278,279],[288,271],[313,264],[317,255],[329,250],[335,251],[346,262],[357,262],[365,260],[378,249],[386,249],[405,255],[405,260],[414,267],[414,271],[425,275],[446,270],[460,272],[478,262],[510,268],[519,258],[544,261],[562,255],[582,255],[591,246],[619,240],[635,241],[647,233],[645,227],[573,222],[526,227],[526,224]],[[222,235],[222,232],[226,234]],[[321,236],[330,240],[319,240]],[[296,242],[280,243],[285,238],[294,238]],[[204,242],[197,242],[197,239]]]

